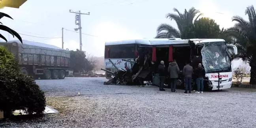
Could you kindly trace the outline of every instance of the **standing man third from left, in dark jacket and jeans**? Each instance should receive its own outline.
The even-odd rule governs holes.
[[[184,93],[191,93],[191,80],[193,74],[193,67],[186,63],[186,66],[183,68],[183,75],[185,78],[185,92]],[[189,88],[189,90],[188,90]]]

